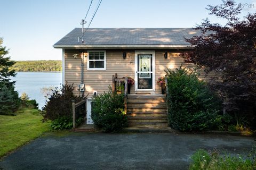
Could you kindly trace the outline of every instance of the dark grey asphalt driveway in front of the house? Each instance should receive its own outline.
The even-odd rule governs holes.
[[[246,154],[251,137],[175,133],[48,134],[0,162],[0,169],[188,169],[199,148]]]

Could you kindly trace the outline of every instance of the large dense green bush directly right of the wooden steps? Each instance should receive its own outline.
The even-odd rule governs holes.
[[[187,69],[165,71],[170,126],[180,131],[214,129],[221,123],[220,100]]]

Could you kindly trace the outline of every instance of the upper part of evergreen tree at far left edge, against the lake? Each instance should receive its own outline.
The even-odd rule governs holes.
[[[10,70],[9,67],[15,64],[10,60],[10,57],[6,57],[8,50],[3,46],[3,38],[0,38],[0,85],[6,84],[6,86],[13,86],[15,81],[11,81],[10,77],[15,77],[15,70]]]

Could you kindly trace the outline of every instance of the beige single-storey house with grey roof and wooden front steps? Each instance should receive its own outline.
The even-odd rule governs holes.
[[[179,53],[193,48],[185,37],[199,33],[192,28],[90,28],[82,36],[82,28],[75,28],[53,47],[62,49],[63,83],[80,84],[77,95],[89,94],[89,112],[92,96],[108,91],[117,73],[135,80],[127,101],[130,123],[158,127],[167,125],[167,112],[156,81],[166,68],[183,63]]]

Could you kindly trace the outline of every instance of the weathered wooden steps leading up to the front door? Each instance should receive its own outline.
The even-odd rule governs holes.
[[[127,116],[134,128],[166,128],[167,109],[164,95],[128,95]]]

